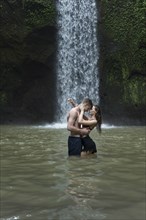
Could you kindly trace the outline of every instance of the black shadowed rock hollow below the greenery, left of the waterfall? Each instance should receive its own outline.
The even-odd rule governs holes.
[[[7,69],[10,68],[11,79],[4,82],[7,97],[1,105],[2,122],[39,123],[54,120],[55,36],[55,27],[33,30],[22,42],[25,47],[20,51],[20,56],[23,56],[21,62],[6,64]]]

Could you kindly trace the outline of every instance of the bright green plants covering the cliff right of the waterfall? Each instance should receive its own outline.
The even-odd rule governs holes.
[[[123,102],[145,104],[146,2],[144,0],[101,0],[104,29],[114,45],[107,62],[107,85],[120,78]],[[115,63],[118,64],[115,65]],[[116,66],[116,69],[115,69]]]

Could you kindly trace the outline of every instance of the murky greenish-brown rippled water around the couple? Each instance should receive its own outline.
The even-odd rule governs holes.
[[[90,158],[68,158],[67,137],[1,126],[0,220],[144,220],[146,127],[92,131]]]

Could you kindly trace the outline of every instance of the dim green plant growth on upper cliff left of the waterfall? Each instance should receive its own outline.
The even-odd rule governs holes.
[[[18,68],[28,58],[25,39],[38,28],[55,25],[53,0],[1,0],[0,105],[12,103],[23,75]]]

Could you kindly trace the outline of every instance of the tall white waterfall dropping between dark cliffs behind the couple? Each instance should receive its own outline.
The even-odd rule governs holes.
[[[99,102],[96,0],[58,0],[57,121],[71,109],[67,98]]]

